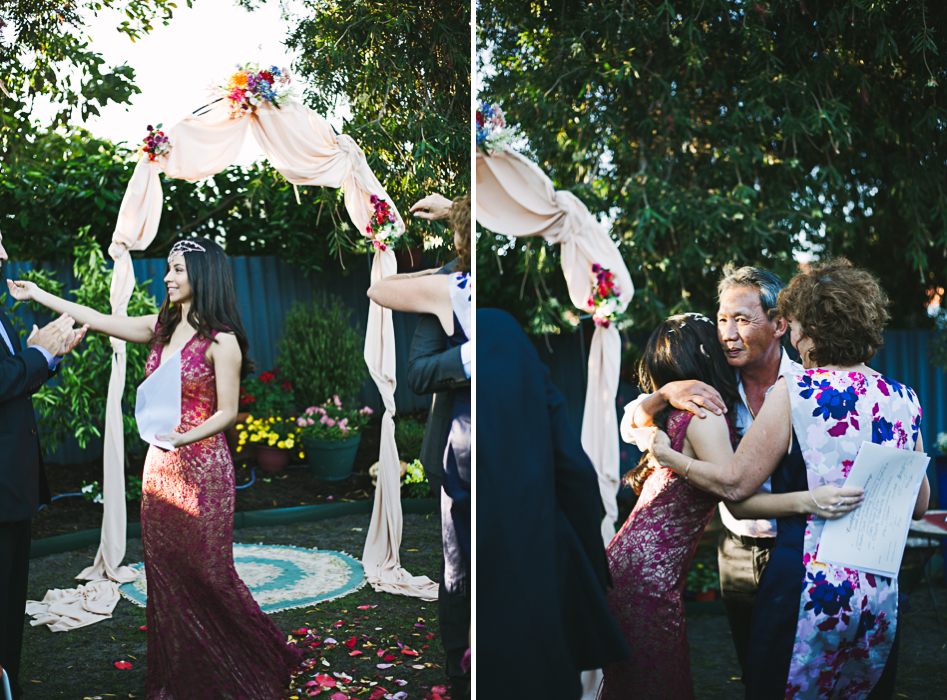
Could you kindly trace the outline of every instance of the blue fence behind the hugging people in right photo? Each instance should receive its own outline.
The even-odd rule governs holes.
[[[590,331],[586,331],[588,333]],[[947,373],[931,364],[928,346],[935,331],[898,331],[885,332],[884,347],[869,365],[882,374],[902,384],[907,384],[917,392],[923,411],[921,435],[924,449],[932,453],[937,434],[947,432]],[[638,347],[643,347],[647,334],[632,339]],[[533,344],[540,359],[549,367],[552,380],[562,391],[569,406],[569,417],[573,427],[579,433],[582,428],[582,412],[585,409],[585,369],[587,361],[583,353],[583,338],[579,333],[566,336],[547,336],[534,338]],[[638,396],[636,387],[621,382],[616,398],[618,418],[621,420],[624,407]],[[621,473],[624,474],[638,463],[640,452],[625,442],[620,443],[622,455]],[[937,493],[937,477],[934,462],[928,467],[932,493]],[[630,491],[628,492],[630,494]],[[941,504],[941,507],[947,507]]]

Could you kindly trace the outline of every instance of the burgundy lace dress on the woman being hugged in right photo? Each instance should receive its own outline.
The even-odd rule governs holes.
[[[667,421],[671,447],[680,451],[688,411]],[[736,442],[730,428],[730,442]],[[634,510],[608,545],[612,588],[608,606],[631,658],[603,669],[601,700],[690,700],[694,684],[681,593],[691,558],[719,498],[691,486],[670,469],[655,469]]]

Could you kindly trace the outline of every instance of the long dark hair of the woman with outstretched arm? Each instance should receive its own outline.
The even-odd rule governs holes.
[[[195,238],[191,242],[202,247],[205,252],[185,250],[182,253],[187,281],[191,285],[191,308],[187,313],[187,322],[197,329],[202,338],[213,338],[214,331],[237,336],[242,358],[240,377],[246,377],[253,372],[254,365],[249,356],[247,332],[243,329],[237,309],[237,292],[227,256],[224,249],[209,238]],[[158,311],[158,328],[152,342],[167,344],[180,322],[181,305],[172,304],[166,296]]]

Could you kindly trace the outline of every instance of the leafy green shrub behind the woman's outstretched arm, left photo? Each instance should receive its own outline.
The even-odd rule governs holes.
[[[88,227],[80,232],[74,242],[75,263],[73,274],[79,282],[77,289],[70,290],[72,301],[103,313],[109,313],[109,285],[111,269],[106,265],[101,247],[89,235]],[[23,276],[41,288],[62,295],[65,284],[45,270],[32,270]],[[29,303],[34,312],[48,313],[34,302],[15,302],[16,311]],[[144,316],[158,312],[154,297],[143,285],[136,285],[128,303],[129,316]],[[13,316],[14,323],[19,321]],[[19,332],[25,329],[19,328]],[[138,427],[135,422],[136,388],[145,379],[145,362],[149,347],[128,343],[125,388],[122,393],[122,427],[126,448],[138,443]],[[105,430],[105,405],[112,372],[112,345],[108,336],[88,333],[85,339],[63,362],[58,377],[33,395],[33,405],[39,413],[40,440],[47,453],[56,449],[69,436],[75,436],[80,447],[86,447],[93,437],[101,437]]]

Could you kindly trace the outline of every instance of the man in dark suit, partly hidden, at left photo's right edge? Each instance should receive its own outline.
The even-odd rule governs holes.
[[[423,219],[446,219],[450,207],[451,200],[433,194],[417,202],[411,207],[411,212]],[[436,274],[450,273],[455,263],[456,260],[449,262]],[[421,444],[421,465],[437,498],[444,478],[444,450],[454,409],[454,393],[470,387],[464,359],[461,347],[447,350],[447,335],[437,317],[422,314],[408,354],[408,388],[415,394],[434,394]],[[447,675],[453,682],[455,695],[460,697],[462,685],[466,682],[462,680],[461,659],[470,642],[470,599],[448,595],[443,575],[438,588],[437,611],[441,643],[447,654]]]

